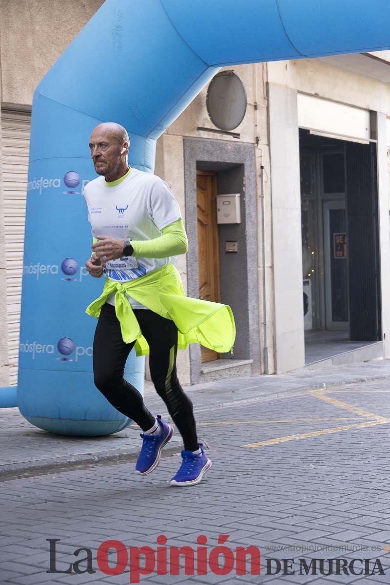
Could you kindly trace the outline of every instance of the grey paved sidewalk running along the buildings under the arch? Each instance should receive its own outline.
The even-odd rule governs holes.
[[[184,389],[194,403],[196,416],[196,412],[218,410],[222,405],[234,408],[272,401],[283,395],[304,394],[316,388],[334,388],[384,378],[390,379],[390,360],[373,360],[332,369],[299,369],[278,376],[231,378]],[[145,383],[145,398],[152,412],[166,413],[150,382]],[[0,480],[135,461],[141,445],[139,433],[140,429],[132,425],[105,437],[54,435],[27,422],[18,408],[0,409]],[[200,441],[201,433],[202,429]],[[181,438],[176,432],[163,453],[167,457],[181,449]]]

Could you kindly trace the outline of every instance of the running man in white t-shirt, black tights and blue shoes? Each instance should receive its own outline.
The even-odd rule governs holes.
[[[202,480],[212,463],[198,443],[192,401],[177,377],[177,350],[193,342],[232,350],[234,319],[227,305],[185,297],[180,275],[171,263],[172,256],[188,250],[180,207],[163,180],[129,167],[129,146],[126,129],[113,122],[96,126],[89,141],[100,176],[84,188],[94,236],[92,256],[85,266],[93,277],[105,274],[101,296],[87,308],[88,314],[98,317],[92,352],[94,382],[113,407],[142,429],[136,472],[152,472],[173,427],[160,415],[151,414],[139,391],[123,378],[134,345],[137,355],[149,353],[154,387],[184,442],[180,469],[170,483],[191,486]],[[203,303],[196,305],[203,314],[194,320],[192,309],[197,302]],[[187,326],[186,320],[194,321],[194,326]],[[221,335],[228,335],[227,342],[220,340]]]

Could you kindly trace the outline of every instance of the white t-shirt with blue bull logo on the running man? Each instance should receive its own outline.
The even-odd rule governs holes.
[[[120,180],[119,180],[120,181]],[[97,177],[84,187],[88,207],[88,221],[92,236],[113,236],[132,240],[151,240],[161,235],[161,230],[182,218],[180,207],[167,183],[156,175],[132,168],[119,184],[108,186],[104,177]],[[175,257],[173,257],[175,259]],[[104,272],[109,280],[124,282],[144,276],[172,262],[167,258],[141,258],[124,256],[105,262]],[[115,292],[107,302],[114,304]],[[131,298],[133,308],[143,308]]]

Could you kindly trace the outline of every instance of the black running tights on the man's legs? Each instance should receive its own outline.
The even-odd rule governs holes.
[[[154,387],[182,436],[184,449],[195,451],[199,445],[192,402],[180,386],[176,371],[177,328],[171,319],[150,309],[134,309],[134,314],[149,343],[150,376]],[[95,386],[113,407],[147,431],[154,424],[154,416],[144,405],[139,391],[123,378],[127,356],[134,343],[123,341],[115,307],[108,303],[103,305],[92,352]]]

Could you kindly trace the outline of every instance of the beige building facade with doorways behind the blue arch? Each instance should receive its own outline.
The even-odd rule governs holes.
[[[0,386],[17,383],[33,91],[101,4],[0,2]],[[237,326],[233,355],[179,352],[182,383],[389,355],[389,116],[390,51],[277,61],[223,68],[158,139],[185,290]]]

